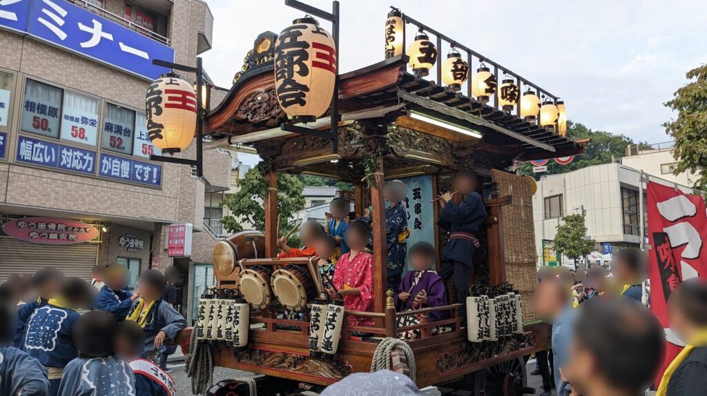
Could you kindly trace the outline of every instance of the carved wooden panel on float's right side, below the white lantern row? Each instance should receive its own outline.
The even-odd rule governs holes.
[[[530,348],[534,344],[535,337],[531,332],[503,337],[497,342],[484,341],[480,344],[467,344],[464,349],[441,354],[437,358],[437,371],[440,374],[448,373],[458,368],[481,363],[496,356]]]

